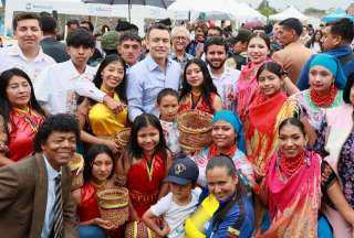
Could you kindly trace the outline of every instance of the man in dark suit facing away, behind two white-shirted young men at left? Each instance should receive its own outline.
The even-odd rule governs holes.
[[[41,41],[42,50],[45,54],[55,60],[56,63],[70,60],[64,43],[56,39],[56,20],[52,15],[41,15],[41,25],[43,40]]]

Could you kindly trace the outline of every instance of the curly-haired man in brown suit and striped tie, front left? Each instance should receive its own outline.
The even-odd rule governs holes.
[[[0,167],[1,237],[77,237],[67,163],[79,137],[72,116],[53,116],[35,134],[33,156]],[[62,213],[55,207],[62,207]]]

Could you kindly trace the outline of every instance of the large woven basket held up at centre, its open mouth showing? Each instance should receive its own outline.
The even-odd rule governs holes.
[[[212,115],[188,110],[177,117],[180,147],[198,151],[211,143]]]

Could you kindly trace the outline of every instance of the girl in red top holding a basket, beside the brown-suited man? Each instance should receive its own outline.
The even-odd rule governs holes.
[[[85,155],[84,185],[72,191],[72,197],[77,205],[80,219],[79,235],[83,238],[106,237],[105,230],[114,227],[108,220],[100,217],[97,191],[113,186],[115,161],[111,150],[105,145],[91,147]]]

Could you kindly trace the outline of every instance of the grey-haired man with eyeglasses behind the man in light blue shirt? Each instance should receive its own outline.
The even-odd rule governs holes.
[[[187,62],[194,58],[192,55],[186,52],[190,42],[189,32],[185,26],[175,26],[170,33],[173,39],[173,50],[169,57],[180,64],[184,71]]]

